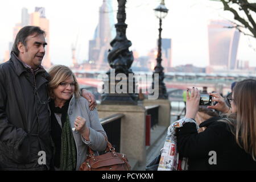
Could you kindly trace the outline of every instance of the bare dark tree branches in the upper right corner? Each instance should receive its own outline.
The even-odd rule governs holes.
[[[238,31],[245,35],[256,38],[256,23],[253,16],[256,13],[256,3],[248,0],[211,0],[220,1],[224,5],[225,11],[230,11],[234,15],[235,26],[229,28],[237,28]],[[236,9],[235,7],[238,7]],[[242,15],[245,14],[245,16]],[[255,17],[255,16],[254,16]],[[245,31],[247,30],[247,31]]]

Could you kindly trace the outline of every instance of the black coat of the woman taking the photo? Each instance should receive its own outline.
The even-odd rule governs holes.
[[[256,162],[236,143],[228,124],[210,118],[200,124],[207,127],[197,133],[195,123],[185,123],[177,131],[177,150],[189,159],[189,170],[256,170]],[[216,152],[216,163],[214,154]],[[210,161],[210,163],[209,163]]]

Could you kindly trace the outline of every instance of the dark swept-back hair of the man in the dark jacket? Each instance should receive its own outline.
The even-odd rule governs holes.
[[[19,30],[12,49],[16,56],[19,55],[18,43],[21,42],[24,46],[27,46],[27,37],[33,34],[36,34],[36,36],[40,34],[46,36],[46,32],[36,26],[26,26]]]

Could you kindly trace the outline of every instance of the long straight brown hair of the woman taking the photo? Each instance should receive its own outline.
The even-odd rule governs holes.
[[[229,123],[237,144],[256,159],[256,80],[237,82],[233,90],[237,113],[221,121]],[[256,160],[255,160],[256,161]]]

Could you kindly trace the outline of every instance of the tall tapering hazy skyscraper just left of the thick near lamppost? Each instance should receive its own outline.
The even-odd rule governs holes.
[[[96,64],[96,69],[108,68],[108,51],[114,39],[114,14],[112,0],[104,0],[100,7],[98,26],[94,31],[93,40],[89,41],[89,61]]]

